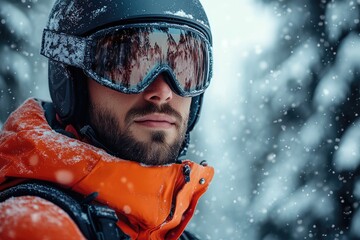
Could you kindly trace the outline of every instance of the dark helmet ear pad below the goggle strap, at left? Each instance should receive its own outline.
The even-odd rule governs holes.
[[[82,70],[50,60],[49,90],[61,121],[81,126],[88,102],[86,76]]]

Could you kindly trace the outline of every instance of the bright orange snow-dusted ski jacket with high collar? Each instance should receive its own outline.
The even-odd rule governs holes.
[[[188,183],[183,175],[184,165],[191,168]],[[0,133],[0,188],[5,180],[14,178],[50,181],[84,195],[98,192],[96,201],[117,212],[118,226],[131,239],[177,239],[194,214],[198,199],[208,188],[213,174],[212,167],[189,160],[181,164],[144,166],[68,138],[51,129],[41,104],[34,99],[27,100],[12,113]],[[39,202],[39,211],[31,208],[34,201]],[[14,211],[10,210],[20,203],[29,208],[32,215],[12,214]],[[0,222],[7,219],[10,223],[0,225],[0,239],[6,239],[10,230],[11,234],[28,234],[24,224],[30,226],[29,221],[37,218],[34,214],[40,214],[41,210],[54,216],[56,207],[34,197],[13,198],[1,203]],[[171,209],[173,216],[169,217]],[[59,219],[67,217],[66,221],[63,219],[64,224],[74,224],[66,213],[58,212]],[[60,227],[55,234],[52,231],[56,231],[56,224],[49,227],[50,221],[41,219],[42,224],[31,225],[31,231],[39,236],[42,233],[42,236],[58,236],[56,234],[75,229],[71,230],[73,239],[81,239],[76,227],[67,227],[66,231]]]

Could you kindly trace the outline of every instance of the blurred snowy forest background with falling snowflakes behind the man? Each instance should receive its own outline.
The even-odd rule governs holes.
[[[49,99],[53,1],[0,0],[0,126]],[[360,0],[202,0],[214,78],[189,157],[216,169],[203,239],[360,239]]]

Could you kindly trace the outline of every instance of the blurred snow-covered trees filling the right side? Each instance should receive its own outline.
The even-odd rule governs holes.
[[[360,238],[360,1],[262,2],[281,27],[247,63],[256,239]]]

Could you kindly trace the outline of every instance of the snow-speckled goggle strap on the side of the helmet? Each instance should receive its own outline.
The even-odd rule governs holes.
[[[45,29],[40,53],[52,60],[84,69],[86,46],[84,38]]]

